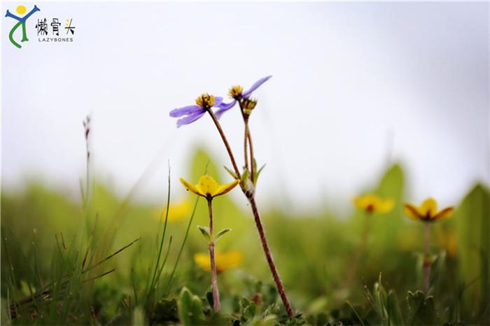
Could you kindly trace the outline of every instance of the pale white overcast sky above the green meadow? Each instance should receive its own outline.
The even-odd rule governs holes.
[[[230,164],[208,117],[176,129],[169,111],[269,74],[251,122],[267,163],[261,201],[349,205],[388,153],[405,167],[409,200],[456,204],[472,183],[488,183],[489,3],[41,2],[22,49],[3,17],[18,4],[1,9],[7,189],[36,175],[76,193],[90,113],[99,177],[126,194],[164,148],[138,195],[165,196],[168,159],[178,197],[195,144]],[[72,18],[73,43],[39,43],[41,17]],[[241,158],[239,113],[222,123]]]

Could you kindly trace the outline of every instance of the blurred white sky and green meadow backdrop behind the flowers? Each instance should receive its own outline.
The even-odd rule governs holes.
[[[2,12],[19,4],[4,2]],[[169,277],[195,202],[179,177],[197,183],[207,169],[221,183],[231,180],[209,117],[177,129],[169,111],[202,92],[227,97],[231,85],[248,89],[272,75],[253,94],[255,157],[267,164],[256,195],[293,306],[315,323],[325,311],[325,321],[338,320],[347,299],[363,306],[363,285],[380,272],[405,302],[408,290],[421,288],[423,229],[402,214],[402,203],[435,197],[441,208],[456,206],[430,238],[431,293],[447,317],[440,323],[479,325],[488,316],[489,3],[22,4],[41,11],[27,20],[21,49],[1,38],[3,305],[9,293],[29,295],[29,286],[55,278],[60,232],[73,239],[69,248],[80,239],[99,243],[90,245],[99,258],[141,236],[102,265],[117,271],[90,292],[90,306],[109,323],[155,264],[168,165],[174,244],[162,278]],[[71,18],[73,42],[39,42],[44,17]],[[14,23],[2,18],[3,36]],[[91,201],[84,206],[87,115]],[[237,108],[221,123],[241,164]],[[367,220],[352,203],[365,192],[393,199],[395,208]],[[271,279],[241,192],[216,199],[215,215],[217,229],[233,228],[219,249],[240,256],[220,275],[229,312],[234,296],[251,297]],[[184,285],[198,295],[209,287],[193,261],[206,249],[195,225],[207,225],[204,201],[170,297]]]

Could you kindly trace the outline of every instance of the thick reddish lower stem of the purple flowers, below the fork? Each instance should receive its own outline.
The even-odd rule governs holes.
[[[270,252],[269,243],[267,243],[267,237],[265,236],[264,226],[262,225],[262,220],[260,220],[260,215],[258,213],[257,204],[255,204],[255,199],[253,195],[248,197],[248,201],[250,201],[250,205],[252,207],[253,217],[255,219],[255,225],[258,229],[258,234],[260,235],[260,241],[262,242],[262,248],[264,249],[265,258],[267,259],[267,263],[269,264],[269,269],[272,273],[272,277],[274,278],[274,282],[276,283],[277,291],[279,295],[281,295],[282,302],[286,311],[288,313],[289,318],[293,318],[293,308],[291,308],[291,304],[289,303],[288,296],[286,295],[286,290],[284,290],[284,286],[282,284],[281,278],[279,277],[279,273],[277,272],[276,264],[272,259],[272,253]]]

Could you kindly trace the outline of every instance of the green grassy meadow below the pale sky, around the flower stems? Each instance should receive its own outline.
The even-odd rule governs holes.
[[[198,150],[188,180],[197,180],[208,161]],[[213,162],[207,169],[212,176],[228,177]],[[172,178],[172,187],[179,186]],[[281,207],[262,211],[274,259],[298,313],[293,320],[285,317],[251,212],[228,196],[214,202],[216,229],[232,228],[218,249],[240,250],[244,261],[218,276],[222,313],[216,314],[211,312],[210,276],[193,262],[194,253],[206,251],[196,227],[207,225],[204,201],[197,202],[181,247],[190,216],[168,222],[163,238],[165,223],[158,217],[165,217],[165,203],[118,199],[99,183],[86,208],[42,183],[19,192],[3,190],[1,323],[489,325],[488,189],[475,185],[454,203],[451,220],[433,225],[431,248],[437,259],[426,297],[420,292],[423,229],[402,215],[404,179],[395,164],[366,189],[397,204],[391,213],[371,216],[367,246],[351,281],[351,258],[365,215],[340,218],[326,206],[315,215],[290,215]]]

